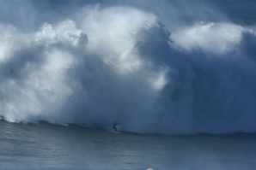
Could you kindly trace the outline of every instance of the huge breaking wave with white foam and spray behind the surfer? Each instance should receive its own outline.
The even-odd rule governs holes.
[[[4,120],[117,121],[122,131],[168,135],[256,132],[252,28],[224,19],[179,25],[132,5],[84,5],[63,17],[33,10],[39,20],[26,12],[33,4],[20,8],[18,21],[1,12]]]

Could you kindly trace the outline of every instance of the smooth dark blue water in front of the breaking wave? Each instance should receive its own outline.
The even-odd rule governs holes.
[[[253,169],[254,134],[159,136],[1,121],[1,169]]]

